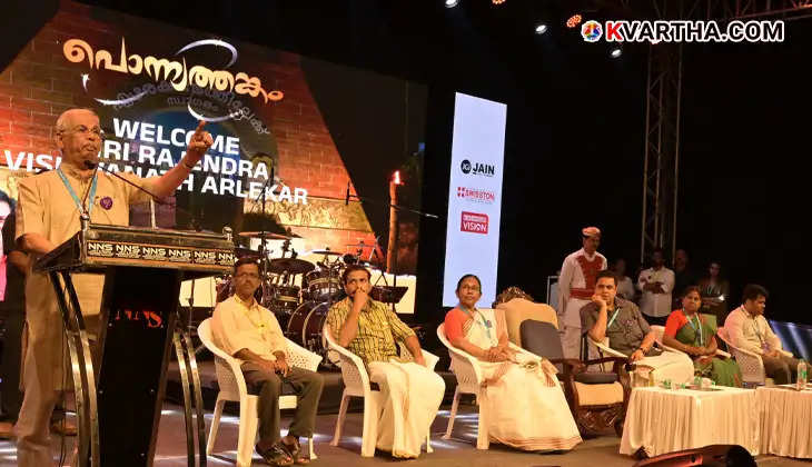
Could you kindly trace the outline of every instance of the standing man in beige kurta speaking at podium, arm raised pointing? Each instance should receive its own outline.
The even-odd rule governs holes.
[[[201,121],[180,163],[160,177],[122,177],[167,197],[186,180],[195,165],[211,147],[211,135]],[[99,117],[90,109],[70,109],[57,119],[55,140],[62,153],[56,170],[19,182],[17,242],[32,255],[30,265],[76,235],[82,213],[92,223],[127,226],[129,205],[149,200],[147,192],[98,170],[102,131]],[[75,274],[73,285],[85,312],[89,335],[98,332],[98,315],[105,277]],[[52,461],[49,426],[51,411],[70,382],[67,377],[62,317],[53,286],[43,272],[29,271],[26,280],[26,330],[22,362],[24,397],[14,427],[17,458],[22,467],[49,466]]]

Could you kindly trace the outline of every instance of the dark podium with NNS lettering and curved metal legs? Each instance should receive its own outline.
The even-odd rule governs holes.
[[[151,466],[175,347],[184,384],[188,463],[194,465],[189,379],[195,385],[200,465],[206,465],[195,349],[178,328],[180,281],[231,272],[225,236],[89,225],[34,265],[48,272],[62,312],[76,393],[80,466]],[[91,349],[72,272],[105,275],[98,342]],[[188,371],[188,372],[187,372]],[[190,375],[189,375],[190,374]]]

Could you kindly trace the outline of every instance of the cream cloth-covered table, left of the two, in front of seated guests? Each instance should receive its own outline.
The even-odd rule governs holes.
[[[648,456],[710,445],[740,445],[759,454],[755,390],[641,387],[632,390],[621,454],[643,448]]]

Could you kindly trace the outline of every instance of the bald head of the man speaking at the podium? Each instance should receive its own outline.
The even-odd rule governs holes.
[[[101,150],[99,116],[90,109],[70,109],[57,119],[55,140],[62,160],[77,168],[85,161],[98,162]]]

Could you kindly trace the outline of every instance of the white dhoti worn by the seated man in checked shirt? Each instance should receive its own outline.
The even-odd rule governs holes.
[[[368,368],[382,396],[376,447],[394,457],[418,457],[443,403],[445,381],[415,362],[373,361]]]

